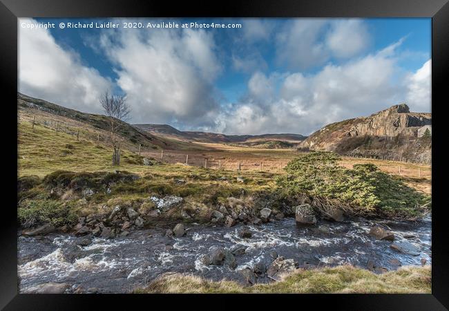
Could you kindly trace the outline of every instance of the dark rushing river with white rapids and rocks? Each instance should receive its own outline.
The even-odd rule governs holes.
[[[392,249],[391,242],[376,241],[369,236],[372,223],[388,225],[395,243],[412,243],[419,254],[403,254]],[[182,238],[164,236],[164,229],[145,229],[114,239],[93,238],[90,245],[81,246],[83,237],[70,234],[19,236],[19,290],[47,282],[68,283],[73,292],[78,286],[96,288],[102,293],[126,293],[140,288],[165,272],[182,272],[207,279],[230,279],[243,282],[238,270],[269,265],[272,252],[293,258],[300,267],[352,264],[367,267],[372,261],[388,270],[402,265],[421,265],[432,261],[430,216],[417,223],[356,218],[342,223],[322,221],[329,232],[314,227],[300,227],[293,218],[274,220],[260,226],[248,226],[251,238],[240,238],[243,225],[234,227],[187,226]],[[245,254],[236,256],[238,267],[203,265],[202,255],[211,247],[230,249],[235,245],[247,247]],[[393,260],[393,261],[392,261]],[[271,281],[259,278],[259,283]]]

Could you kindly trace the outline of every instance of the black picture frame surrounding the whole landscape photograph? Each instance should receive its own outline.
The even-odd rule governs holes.
[[[443,140],[445,136],[443,117],[443,92],[448,85],[449,55],[449,3],[448,0],[258,0],[258,1],[171,1],[153,0],[0,0],[1,57],[0,76],[3,86],[1,102],[3,109],[3,214],[1,222],[0,256],[0,308],[5,310],[82,310],[92,307],[92,300],[101,303],[102,309],[111,304],[116,307],[138,300],[147,308],[156,307],[156,301],[172,305],[178,300],[167,295],[50,295],[18,294],[17,285],[17,197],[13,195],[17,181],[17,18],[18,17],[431,17],[432,18],[432,294],[332,294],[296,295],[283,297],[258,295],[251,304],[277,301],[285,305],[284,299],[301,308],[304,303],[322,305],[330,303],[333,309],[345,310],[447,310],[449,308],[448,230],[446,208],[443,205]],[[8,125],[6,125],[8,124]],[[6,173],[6,175],[5,175]],[[17,182],[16,182],[17,183]],[[4,200],[4,198],[8,200]],[[437,203],[435,203],[437,202]],[[441,203],[441,205],[439,205]],[[442,207],[442,208],[439,208]],[[198,299],[211,299],[214,308],[216,299],[229,296],[180,295],[191,299],[191,303],[207,306]],[[231,295],[231,299],[242,295]],[[282,300],[282,305],[280,300]],[[291,299],[291,300],[290,300]],[[151,304],[149,304],[151,303]],[[275,302],[276,303],[276,302]],[[233,303],[232,303],[233,304]],[[191,305],[189,303],[189,305]],[[285,305],[285,307],[283,306]],[[129,306],[129,305],[128,305]],[[187,305],[186,305],[187,306]],[[193,306],[193,305],[191,305]],[[314,308],[314,307],[309,307]]]

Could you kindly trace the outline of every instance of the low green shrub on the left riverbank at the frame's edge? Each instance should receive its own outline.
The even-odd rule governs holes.
[[[43,223],[51,223],[55,227],[73,225],[77,214],[57,200],[25,200],[19,205],[17,217],[23,227],[32,227]]]

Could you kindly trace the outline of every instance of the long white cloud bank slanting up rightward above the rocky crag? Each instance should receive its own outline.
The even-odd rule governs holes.
[[[400,44],[342,65],[329,64],[314,75],[255,73],[247,97],[220,115],[222,129],[308,135],[325,124],[370,115],[405,100],[412,111],[422,111],[429,100],[430,61],[404,75],[395,52]]]

